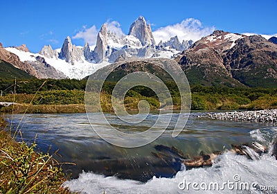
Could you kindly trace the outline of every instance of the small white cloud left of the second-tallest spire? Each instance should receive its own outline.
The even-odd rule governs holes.
[[[84,42],[88,42],[90,45],[96,44],[96,39],[98,35],[98,30],[96,26],[91,26],[91,28],[87,28],[83,26],[83,29],[76,33],[72,38],[73,39],[84,39]]]

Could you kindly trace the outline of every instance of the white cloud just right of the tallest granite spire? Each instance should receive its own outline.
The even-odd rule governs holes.
[[[210,35],[214,30],[215,27],[203,27],[198,19],[188,18],[181,21],[181,23],[159,28],[153,32],[153,35],[157,43],[161,40],[166,42],[175,35],[177,35],[180,42],[183,39],[197,41],[206,35]]]

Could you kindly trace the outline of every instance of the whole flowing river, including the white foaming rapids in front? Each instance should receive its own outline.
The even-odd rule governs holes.
[[[64,171],[72,179],[64,186],[72,191],[83,193],[276,193],[277,161],[270,154],[260,159],[250,160],[245,156],[228,151],[231,144],[257,141],[271,148],[277,136],[277,127],[270,123],[245,123],[233,121],[214,121],[191,114],[186,127],[176,138],[172,138],[174,120],[159,139],[140,148],[119,148],[106,143],[94,132],[86,114],[26,114],[20,123],[21,114],[12,118],[12,130],[21,129],[23,139],[32,142],[37,135],[37,148],[44,152],[59,150],[55,159],[72,162],[76,166],[64,165]],[[166,115],[166,114],[165,114]],[[93,123],[105,130],[107,125],[101,121],[98,113],[93,116]],[[157,119],[154,112],[145,122],[122,125],[114,114],[105,114],[107,120],[118,130],[124,132],[142,132],[147,130]],[[9,116],[11,121],[11,118]],[[153,132],[158,132],[154,130]],[[18,137],[18,141],[20,141]],[[143,176],[143,159],[157,152],[154,145],[175,146],[184,155],[199,155],[220,150],[224,154],[215,159],[213,166],[186,170],[181,166],[179,172],[161,177]],[[51,145],[51,148],[49,146]],[[271,148],[272,149],[272,148]],[[225,151],[224,151],[225,150]],[[270,150],[269,150],[270,152]],[[254,153],[253,153],[254,154]],[[129,161],[132,169],[125,177],[116,172],[111,175],[101,173],[105,165],[120,164]],[[93,165],[92,165],[93,164]],[[101,166],[103,164],[103,166]],[[105,164],[105,165],[104,165]],[[125,164],[125,163],[123,163]],[[100,168],[98,168],[100,166]],[[114,167],[113,169],[119,168]],[[103,170],[103,171],[104,171]],[[94,173],[93,173],[94,172]],[[107,172],[106,172],[107,173]],[[128,174],[129,173],[129,174]],[[103,175],[104,174],[104,175]],[[120,177],[120,178],[119,178]],[[139,181],[140,180],[140,181]],[[215,188],[213,188],[215,186]],[[271,191],[274,188],[274,191]],[[261,190],[267,191],[261,191]]]

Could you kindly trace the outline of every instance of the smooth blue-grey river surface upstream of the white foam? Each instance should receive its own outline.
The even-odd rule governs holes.
[[[76,166],[64,166],[66,172],[78,177],[82,170],[93,171],[91,163],[101,159],[136,159],[149,157],[154,152],[154,145],[163,144],[175,146],[184,155],[199,155],[199,152],[213,152],[231,148],[231,144],[249,143],[253,141],[253,131],[268,132],[276,129],[273,125],[266,123],[240,123],[233,121],[211,121],[198,118],[201,113],[190,116],[188,123],[176,138],[172,138],[174,123],[179,114],[172,115],[172,122],[159,139],[140,148],[119,148],[106,143],[93,131],[86,114],[26,114],[22,123],[20,114],[13,116],[12,129],[19,129],[27,142],[33,141],[37,134],[38,149],[51,152],[59,150],[62,157],[59,161],[73,162]],[[167,114],[165,114],[166,116]],[[91,115],[93,123],[99,129],[105,131],[107,126],[101,121],[99,114]],[[124,132],[142,132],[151,127],[157,119],[157,114],[147,116],[142,123],[122,123],[114,114],[105,114],[111,125]],[[168,114],[168,116],[170,116]],[[144,115],[143,115],[144,117]],[[139,119],[139,118],[138,118]],[[153,133],[159,129],[152,130]],[[253,134],[251,136],[251,133]],[[112,138],[113,136],[111,136]],[[262,136],[263,141],[271,142],[273,134]],[[20,141],[20,139],[19,139]]]

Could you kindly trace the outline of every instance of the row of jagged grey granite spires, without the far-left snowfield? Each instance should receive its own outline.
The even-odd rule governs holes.
[[[58,58],[70,64],[84,62],[84,60],[96,64],[103,61],[113,63],[127,58],[159,58],[162,51],[168,51],[167,57],[172,58],[191,44],[193,44],[192,40],[183,40],[180,43],[177,37],[172,37],[168,42],[156,45],[150,25],[146,23],[144,17],[139,17],[130,26],[128,35],[123,37],[109,31],[107,25],[103,24],[93,51],[89,48],[88,43],[84,47],[75,46],[70,37],[66,37],[62,49],[58,53]],[[57,56],[56,51],[49,46],[44,46],[39,53],[48,58]]]

